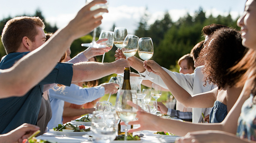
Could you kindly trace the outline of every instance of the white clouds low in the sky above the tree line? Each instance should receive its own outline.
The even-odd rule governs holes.
[[[128,34],[134,34],[134,31],[139,26],[139,21],[145,12],[148,13],[148,24],[153,24],[156,20],[161,20],[164,17],[164,11],[156,11],[150,13],[146,11],[145,7],[135,7],[135,6],[125,6],[121,5],[118,7],[109,7],[109,13],[103,14],[102,24],[100,25],[103,30],[111,30],[113,24],[117,27],[126,27]],[[160,9],[161,10],[161,9]],[[173,22],[179,20],[180,17],[184,17],[187,13],[194,16],[195,11],[189,11],[188,9],[171,9],[168,11]],[[214,17],[218,15],[227,16],[228,13],[231,14],[233,19],[236,19],[241,13],[237,11],[223,12],[217,10],[216,8],[211,8],[205,11],[206,17],[212,14]],[[68,24],[70,20],[74,18],[75,14],[60,14],[56,17],[47,17],[46,21],[50,22],[52,25],[56,24],[57,27],[61,28]]]

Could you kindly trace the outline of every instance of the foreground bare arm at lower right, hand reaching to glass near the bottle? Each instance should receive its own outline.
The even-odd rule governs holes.
[[[244,86],[243,89],[246,86]],[[130,132],[136,132],[140,130],[153,130],[153,131],[167,131],[176,135],[185,135],[188,132],[202,131],[202,130],[218,130],[225,131],[227,133],[235,134],[237,130],[237,121],[241,113],[241,108],[248,95],[244,95],[245,90],[243,90],[232,109],[227,114],[226,118],[221,123],[198,123],[193,124],[189,122],[181,122],[177,120],[163,119],[161,117],[146,113],[144,111],[137,112],[137,118],[139,120],[129,122],[129,124],[140,124],[140,127],[133,129]],[[132,102],[127,102],[128,104],[135,106]]]

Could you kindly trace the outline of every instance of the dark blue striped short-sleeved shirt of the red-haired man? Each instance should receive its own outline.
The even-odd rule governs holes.
[[[8,54],[1,60],[0,69],[11,68],[16,61],[28,53]],[[43,61],[41,64],[44,64]],[[72,65],[72,63],[58,63],[47,77],[24,96],[0,99],[0,134],[8,133],[23,123],[36,125],[44,84],[56,83],[70,86],[73,76]]]

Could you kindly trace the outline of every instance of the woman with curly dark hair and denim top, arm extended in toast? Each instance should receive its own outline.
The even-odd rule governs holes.
[[[242,45],[241,33],[227,27],[208,35],[204,45],[198,58],[198,62],[204,63],[205,66],[202,70],[204,82],[205,85],[209,82],[217,85],[218,88],[197,96],[188,94],[153,60],[148,60],[145,64],[148,71],[153,71],[161,77],[173,96],[184,106],[193,108],[214,106],[210,113],[210,123],[218,123],[224,120],[242,91],[242,87],[234,87],[234,84],[245,71],[229,72],[229,68],[237,64],[247,50]]]

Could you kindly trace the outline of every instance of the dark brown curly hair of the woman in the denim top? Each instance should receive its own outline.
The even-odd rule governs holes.
[[[232,28],[220,28],[209,36],[199,58],[205,63],[203,73],[209,83],[216,84],[218,89],[234,86],[245,71],[229,72],[247,52],[242,45],[241,33]]]

